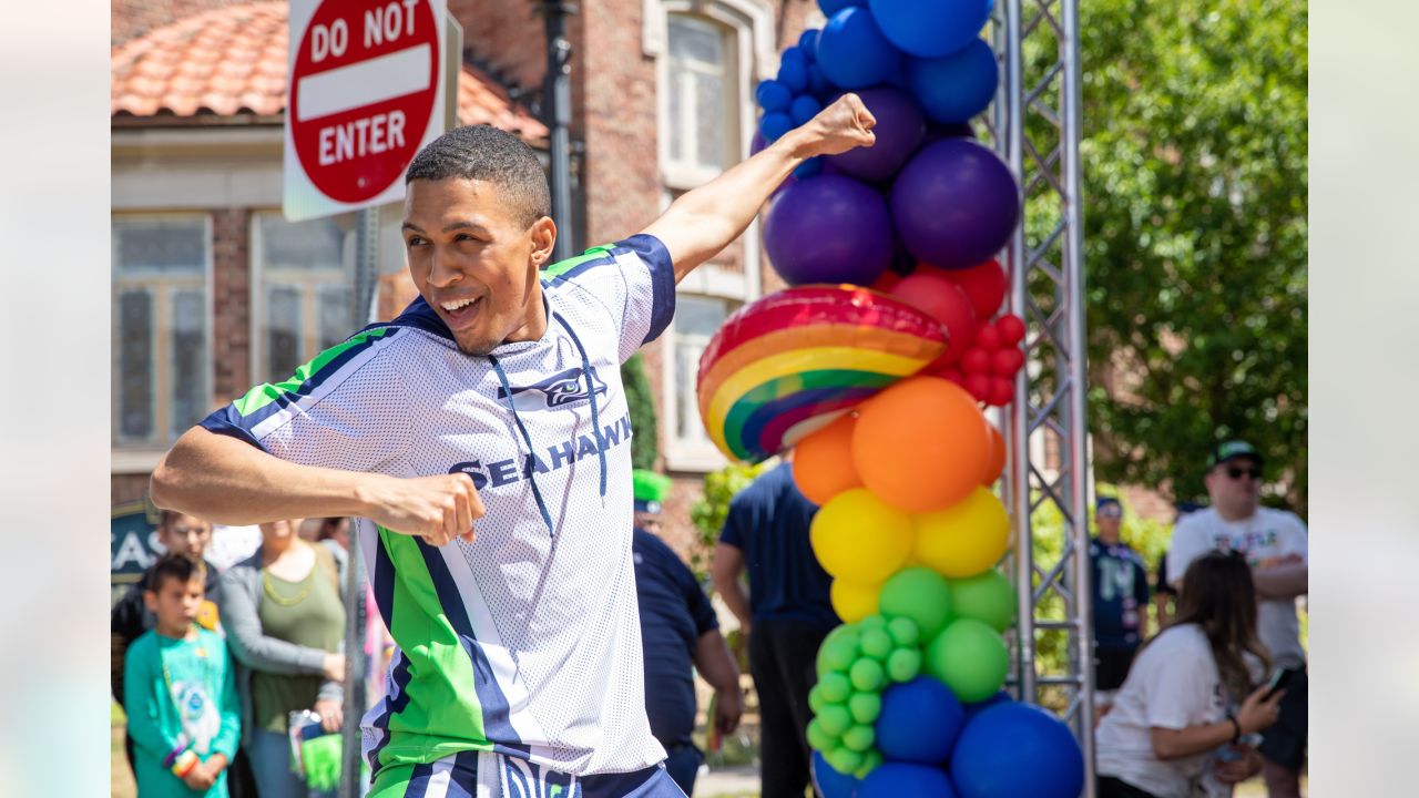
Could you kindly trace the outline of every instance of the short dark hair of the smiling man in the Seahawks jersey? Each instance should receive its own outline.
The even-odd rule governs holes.
[[[431,141],[410,162],[404,183],[450,177],[492,183],[525,227],[552,214],[552,190],[536,153],[518,136],[492,125],[454,128]]]

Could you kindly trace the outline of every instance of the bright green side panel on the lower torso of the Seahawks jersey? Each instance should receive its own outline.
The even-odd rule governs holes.
[[[490,751],[482,727],[477,676],[438,602],[419,541],[379,528],[379,542],[394,567],[389,633],[409,660],[409,701],[386,724],[389,743],[379,765],[427,764],[458,751]]]

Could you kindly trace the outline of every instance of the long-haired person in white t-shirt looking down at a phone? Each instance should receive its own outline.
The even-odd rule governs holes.
[[[1139,650],[1095,731],[1100,798],[1226,797],[1261,770],[1246,737],[1276,721],[1284,690],[1253,690],[1269,660],[1256,623],[1246,561],[1195,559],[1176,621]]]

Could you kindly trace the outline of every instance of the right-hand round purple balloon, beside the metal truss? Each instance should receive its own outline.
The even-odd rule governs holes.
[[[995,256],[1020,220],[1010,169],[969,139],[921,148],[891,187],[891,216],[907,250],[941,268],[969,268]]]

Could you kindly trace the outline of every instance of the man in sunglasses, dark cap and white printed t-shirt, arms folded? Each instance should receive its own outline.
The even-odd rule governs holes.
[[[1271,798],[1298,798],[1307,680],[1296,599],[1307,592],[1307,531],[1294,513],[1260,505],[1261,466],[1261,454],[1244,440],[1229,440],[1212,452],[1203,477],[1212,507],[1174,528],[1168,581],[1181,586],[1188,565],[1212,550],[1247,558],[1257,594],[1257,636],[1270,649],[1273,666],[1296,670],[1281,699],[1280,720],[1261,743],[1261,774]]]

